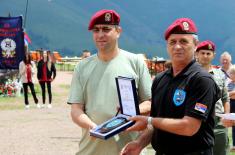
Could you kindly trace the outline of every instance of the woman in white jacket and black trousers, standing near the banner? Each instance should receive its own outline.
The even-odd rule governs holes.
[[[29,100],[28,100],[28,87],[31,90],[31,93],[33,95],[33,99],[37,105],[37,108],[40,108],[40,104],[38,104],[38,99],[37,99],[37,96],[34,90],[34,84],[33,84],[35,64],[33,61],[31,61],[31,55],[28,52],[25,54],[23,61],[21,61],[19,64],[19,73],[20,73],[20,80],[23,83],[25,108],[26,109],[30,108]]]

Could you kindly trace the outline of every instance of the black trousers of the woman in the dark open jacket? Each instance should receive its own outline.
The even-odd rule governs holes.
[[[49,96],[49,104],[51,104],[52,101],[52,94],[51,94],[51,81],[40,81],[40,86],[42,89],[42,103],[45,104],[46,101],[46,85],[47,85],[47,92]]]

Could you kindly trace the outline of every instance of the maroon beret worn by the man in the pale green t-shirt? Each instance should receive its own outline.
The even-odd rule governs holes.
[[[114,10],[100,10],[90,20],[88,30],[92,30],[96,24],[119,25],[120,15]]]

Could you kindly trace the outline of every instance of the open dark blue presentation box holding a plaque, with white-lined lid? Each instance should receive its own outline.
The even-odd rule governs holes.
[[[92,129],[91,136],[108,139],[132,126],[134,122],[129,121],[128,117],[140,113],[135,80],[121,76],[115,80],[121,113]]]

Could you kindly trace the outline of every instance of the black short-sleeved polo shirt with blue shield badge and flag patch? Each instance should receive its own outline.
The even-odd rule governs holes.
[[[154,129],[152,146],[165,154],[184,154],[211,148],[214,145],[214,107],[219,88],[211,75],[195,60],[177,76],[172,70],[158,75],[152,85],[152,117],[202,120],[193,136],[182,136]]]

